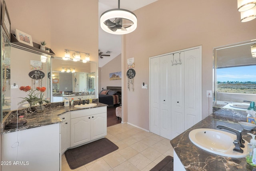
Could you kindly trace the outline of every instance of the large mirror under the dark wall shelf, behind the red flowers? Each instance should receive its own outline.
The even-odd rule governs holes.
[[[12,110],[29,107],[24,97],[36,87],[45,87],[42,98],[50,100],[50,55],[10,43],[1,32],[1,121]],[[42,58],[46,59],[42,62]],[[21,91],[29,86],[30,91]]]

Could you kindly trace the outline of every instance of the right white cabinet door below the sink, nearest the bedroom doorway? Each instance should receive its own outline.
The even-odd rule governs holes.
[[[91,117],[91,140],[107,135],[107,113],[100,113]]]

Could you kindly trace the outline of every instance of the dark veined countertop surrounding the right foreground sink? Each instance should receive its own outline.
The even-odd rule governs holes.
[[[247,133],[255,134],[256,131],[244,130],[238,124],[238,121],[246,121],[246,116],[237,116],[234,113],[233,115],[220,115],[213,113],[172,139],[170,143],[185,169],[187,171],[256,171],[256,167],[252,167],[246,163],[245,157],[237,159],[209,153],[194,145],[188,137],[189,132],[193,129],[218,129],[218,125],[224,125],[242,131],[243,139],[250,142],[251,137],[247,135]]]

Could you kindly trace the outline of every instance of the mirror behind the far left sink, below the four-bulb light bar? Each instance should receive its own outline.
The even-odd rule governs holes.
[[[51,102],[97,98],[97,63],[52,58]]]

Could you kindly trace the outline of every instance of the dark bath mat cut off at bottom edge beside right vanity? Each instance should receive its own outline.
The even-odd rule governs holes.
[[[166,156],[150,171],[173,171],[173,157],[170,155]]]

